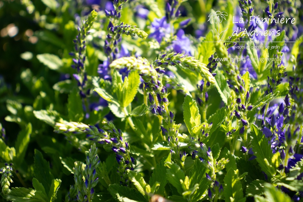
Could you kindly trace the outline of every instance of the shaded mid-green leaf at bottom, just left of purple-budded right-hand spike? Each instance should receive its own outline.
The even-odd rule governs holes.
[[[209,183],[205,173],[206,167],[199,160],[195,161],[194,167],[189,172],[189,187],[194,187],[195,184],[199,186],[199,189],[191,195],[191,201],[193,202],[200,200],[208,188]]]

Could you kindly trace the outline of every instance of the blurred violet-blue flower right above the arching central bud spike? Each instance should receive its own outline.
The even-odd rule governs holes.
[[[172,42],[172,47],[177,53],[185,53],[186,55],[191,55],[191,42],[184,34],[184,31],[180,29],[177,33],[177,40]]]

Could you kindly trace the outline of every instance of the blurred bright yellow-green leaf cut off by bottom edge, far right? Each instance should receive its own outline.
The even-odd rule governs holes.
[[[264,194],[268,201],[291,202],[291,198],[288,195],[269,183],[264,184]]]

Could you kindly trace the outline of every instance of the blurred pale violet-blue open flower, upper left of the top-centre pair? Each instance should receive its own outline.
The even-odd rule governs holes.
[[[155,38],[161,43],[163,37],[169,37],[171,33],[170,25],[166,22],[166,18],[155,18],[154,22],[151,23],[151,34],[149,37]]]

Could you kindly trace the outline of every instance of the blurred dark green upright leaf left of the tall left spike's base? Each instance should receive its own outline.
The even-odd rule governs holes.
[[[68,118],[70,121],[79,121],[83,119],[83,106],[82,99],[80,98],[79,92],[77,89],[74,90],[68,95]]]

